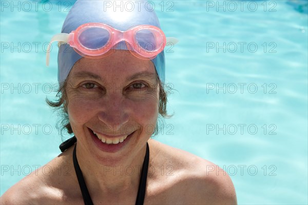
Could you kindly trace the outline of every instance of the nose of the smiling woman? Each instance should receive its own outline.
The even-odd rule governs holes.
[[[102,102],[98,118],[105,125],[114,129],[120,129],[128,121],[128,109],[125,106],[125,98],[120,93],[108,95]]]

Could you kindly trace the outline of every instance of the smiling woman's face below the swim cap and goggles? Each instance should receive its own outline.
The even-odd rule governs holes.
[[[140,150],[156,127],[159,84],[155,67],[129,51],[81,58],[68,76],[66,92],[78,145],[100,160],[117,160]]]

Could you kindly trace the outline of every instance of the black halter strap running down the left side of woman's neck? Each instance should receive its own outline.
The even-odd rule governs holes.
[[[84,180],[84,177],[82,175],[81,169],[79,167],[79,163],[76,157],[76,145],[73,151],[73,162],[74,162],[74,168],[75,172],[78,178],[79,187],[82,193],[82,197],[84,199],[85,205],[93,205],[92,199],[90,197],[86,182]]]

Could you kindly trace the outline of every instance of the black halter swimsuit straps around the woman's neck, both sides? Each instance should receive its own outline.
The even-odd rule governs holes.
[[[77,140],[76,140],[75,136],[73,136],[72,138],[64,141],[60,145],[60,150],[62,152],[64,152],[66,149],[73,146],[76,141]],[[79,167],[79,163],[78,163],[78,160],[77,160],[77,157],[76,157],[76,146],[74,147],[74,151],[73,151],[73,162],[74,162],[75,172],[76,172],[76,175],[77,175],[77,178],[78,178],[80,190],[81,190],[82,197],[84,199],[85,205],[93,205],[93,202],[92,202],[92,199],[90,197],[86,182],[83,178],[83,175],[82,175],[82,172],[81,172],[81,169]],[[141,171],[141,178],[140,178],[139,189],[138,189],[138,194],[137,194],[137,199],[136,199],[136,205],[141,205],[144,202],[148,165],[149,165],[149,146],[148,146],[148,144],[146,144],[146,153],[145,153],[142,171]]]

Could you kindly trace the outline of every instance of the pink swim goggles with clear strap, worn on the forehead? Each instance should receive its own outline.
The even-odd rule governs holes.
[[[56,34],[52,42],[59,45],[68,43],[77,53],[90,58],[101,58],[111,54],[118,43],[126,43],[125,50],[141,59],[153,59],[162,52],[166,45],[174,45],[178,40],[166,38],[164,32],[155,26],[140,25],[126,31],[120,31],[101,23],[88,23],[79,26],[71,33]],[[50,44],[47,48],[46,65],[49,65]],[[123,49],[123,48],[122,48]]]

